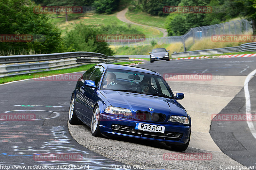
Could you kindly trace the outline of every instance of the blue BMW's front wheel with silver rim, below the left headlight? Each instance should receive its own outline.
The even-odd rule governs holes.
[[[93,109],[92,121],[91,121],[91,132],[92,132],[92,136],[94,136],[94,137],[101,137],[102,136],[102,134],[100,132],[99,116],[100,116],[99,106],[96,106]]]

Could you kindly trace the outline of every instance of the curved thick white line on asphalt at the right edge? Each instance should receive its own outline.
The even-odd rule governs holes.
[[[246,117],[252,117],[251,114],[251,100],[250,100],[250,92],[249,92],[249,88],[248,88],[248,84],[249,81],[251,80],[251,78],[256,74],[256,69],[253,70],[250,74],[247,75],[245,81],[244,81],[244,95],[245,95],[245,113],[246,113]],[[252,123],[252,120],[246,120],[248,127],[252,133],[252,136],[256,139],[256,129]]]

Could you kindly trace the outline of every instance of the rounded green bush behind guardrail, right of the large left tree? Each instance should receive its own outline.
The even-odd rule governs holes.
[[[100,35],[99,28],[79,23],[64,37],[65,46],[68,51],[88,51],[113,55],[114,52],[108,47],[107,42],[97,41]]]

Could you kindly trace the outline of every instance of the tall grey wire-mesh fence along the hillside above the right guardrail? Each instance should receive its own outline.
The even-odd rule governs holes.
[[[248,34],[252,33],[252,21],[247,21],[245,19],[235,20],[230,22],[225,22],[221,24],[215,24],[210,26],[199,26],[195,28],[190,28],[190,30],[181,36],[169,36],[169,37],[150,37],[146,38],[145,41],[135,41],[135,42],[108,42],[108,45],[112,46],[141,46],[150,45],[151,41],[155,41],[157,44],[171,44],[174,42],[182,42],[185,50],[185,41],[189,38],[193,39],[193,43],[196,40],[200,40],[205,37],[211,37],[216,34]]]

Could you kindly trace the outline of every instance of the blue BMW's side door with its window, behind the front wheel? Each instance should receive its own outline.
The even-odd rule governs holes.
[[[89,80],[92,80],[95,82],[95,85],[98,86],[100,78],[102,76],[104,67],[98,66],[90,76]],[[94,106],[94,103],[92,102],[92,95],[97,89],[88,87],[88,86],[81,86],[80,91],[80,99],[82,100],[84,112],[82,113],[83,118],[90,124],[91,118],[92,118],[92,109]]]

